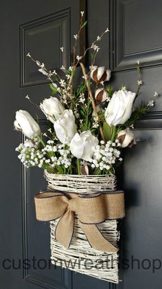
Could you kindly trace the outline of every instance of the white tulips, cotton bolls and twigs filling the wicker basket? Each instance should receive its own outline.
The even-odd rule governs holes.
[[[38,70],[51,82],[51,95],[38,107],[48,120],[47,132],[41,133],[38,122],[23,110],[16,111],[14,127],[26,136],[16,151],[25,167],[40,167],[49,173],[106,175],[114,173],[122,162],[122,149],[136,143],[132,132],[135,122],[154,105],[154,100],[136,107],[135,100],[142,85],[139,61],[137,61],[137,92],[117,92],[108,85],[111,71],[95,66],[100,47],[98,43],[108,33],[108,28],[97,36],[82,56],[76,55],[78,39],[86,22],[81,12],[80,29],[74,35],[73,61],[69,68],[60,67],[65,77],[49,71],[44,63],[27,56],[38,65]],[[64,47],[60,47],[64,53]],[[83,64],[91,50],[91,66]],[[74,87],[76,69],[82,69],[82,82]],[[154,93],[156,98],[159,94]],[[29,96],[26,96],[30,100]],[[30,100],[31,101],[31,100]],[[32,102],[32,101],[31,101]]]

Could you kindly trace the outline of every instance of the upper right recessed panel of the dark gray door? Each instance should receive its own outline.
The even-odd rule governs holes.
[[[111,1],[113,14],[113,65],[115,70],[162,61],[161,2],[152,0]],[[112,31],[112,30],[111,30]]]

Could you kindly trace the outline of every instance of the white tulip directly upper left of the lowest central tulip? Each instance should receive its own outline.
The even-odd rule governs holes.
[[[58,120],[54,122],[56,136],[60,142],[70,142],[76,133],[75,118],[71,109],[65,109]]]

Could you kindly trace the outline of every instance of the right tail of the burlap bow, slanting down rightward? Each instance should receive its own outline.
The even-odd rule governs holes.
[[[115,247],[111,242],[109,242],[103,235],[100,233],[99,229],[95,224],[83,224],[79,222],[80,228],[86,235],[86,238],[89,241],[91,247],[96,250],[102,250],[103,252],[117,252],[118,248]]]

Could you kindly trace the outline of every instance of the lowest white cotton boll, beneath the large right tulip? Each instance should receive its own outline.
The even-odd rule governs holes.
[[[117,140],[119,140],[121,147],[132,147],[133,144],[136,144],[135,135],[129,127],[117,133]]]

